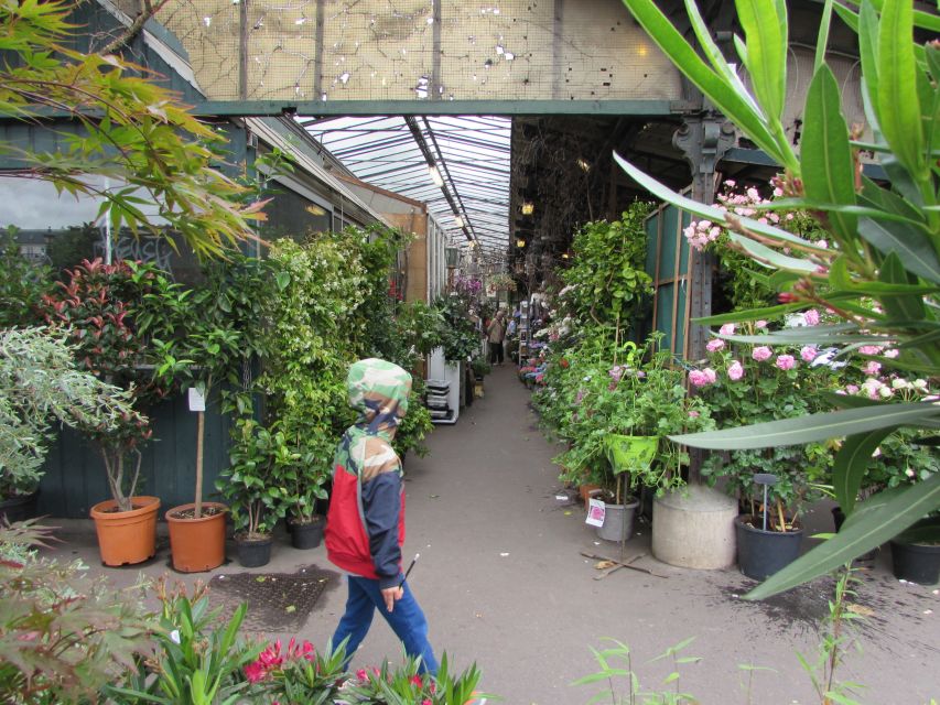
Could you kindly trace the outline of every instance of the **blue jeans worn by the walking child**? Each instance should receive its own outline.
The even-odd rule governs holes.
[[[346,643],[347,665],[363,639],[366,638],[376,609],[401,639],[404,652],[410,657],[421,657],[420,671],[436,675],[437,660],[428,642],[428,620],[408,583],[404,584],[404,596],[395,604],[395,610],[390,612],[386,609],[379,582],[358,575],[349,576],[346,614],[343,615],[336,627],[336,633],[333,634],[334,647],[338,647],[344,639],[349,638]]]

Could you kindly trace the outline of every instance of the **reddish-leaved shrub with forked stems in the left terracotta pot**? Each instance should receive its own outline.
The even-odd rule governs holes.
[[[66,281],[43,297],[46,321],[67,332],[87,371],[123,389],[132,402],[115,427],[83,427],[101,454],[111,491],[111,499],[90,510],[101,560],[106,565],[140,563],[155,553],[160,508],[156,497],[136,494],[140,449],[152,435],[142,410],[174,388],[170,370],[154,375],[153,364],[155,341],[170,340],[177,323],[172,311],[160,306],[171,284],[156,268],[128,261],[86,260],[66,274]]]

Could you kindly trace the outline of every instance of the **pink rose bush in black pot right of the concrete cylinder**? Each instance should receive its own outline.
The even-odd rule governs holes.
[[[750,329],[763,335],[766,326]],[[722,333],[731,335],[731,324]],[[709,405],[720,427],[791,419],[826,408],[833,370],[812,365],[809,350],[747,345],[731,349],[715,338],[709,360],[689,373],[698,395]],[[702,474],[712,482],[722,478],[738,499],[743,513],[735,519],[738,565],[748,577],[763,581],[800,554],[800,511],[819,497],[829,479],[832,453],[821,443],[806,446],[736,449],[712,454]],[[769,484],[756,484],[755,478]],[[766,521],[765,521],[766,518]]]

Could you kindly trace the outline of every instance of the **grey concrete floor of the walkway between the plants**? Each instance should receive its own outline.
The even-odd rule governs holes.
[[[597,693],[597,686],[571,683],[596,670],[591,648],[604,648],[604,638],[631,647],[633,666],[642,690],[650,691],[672,671],[668,660],[650,660],[694,637],[683,654],[702,660],[679,668],[679,686],[702,703],[819,703],[797,653],[814,661],[832,582],[753,604],[738,599],[753,582],[734,568],[682,570],[648,555],[636,565],[668,577],[618,571],[593,579],[594,562],[580,552],[616,556],[618,546],[596,539],[580,507],[561,507],[555,499],[558,468],[551,457],[558,449],[538,431],[528,401],[515,368],[497,368],[486,380],[486,398],[465,410],[455,426],[435,430],[431,454],[408,458],[404,556],[408,562],[421,553],[409,582],[439,655],[446,651],[458,668],[476,661],[484,688],[510,705],[575,705]],[[807,522],[810,532],[813,524],[815,531],[831,531],[825,508]],[[82,555],[98,570],[90,525],[65,524],[60,535],[66,544],[57,553]],[[648,554],[649,534],[649,524],[640,523],[626,555]],[[856,697],[862,703],[926,705],[931,696],[940,698],[940,597],[936,588],[898,583],[887,560],[885,552],[862,574],[854,600],[868,614],[855,629],[861,652],[846,654],[839,676],[866,686]],[[159,575],[166,561],[164,547],[141,570]],[[293,573],[311,565],[328,567],[322,546],[296,551],[283,539],[271,564],[252,572]],[[141,570],[105,572],[122,584]],[[229,563],[214,573],[240,571]],[[325,643],[344,600],[337,575],[298,636]],[[353,665],[399,653],[395,636],[379,620]],[[742,665],[767,670],[746,672]]]

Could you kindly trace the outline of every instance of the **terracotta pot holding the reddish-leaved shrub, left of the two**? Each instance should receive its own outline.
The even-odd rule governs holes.
[[[114,511],[118,502],[108,499],[91,507],[98,532],[98,549],[105,565],[143,563],[156,553],[158,497],[132,497],[130,511]]]

